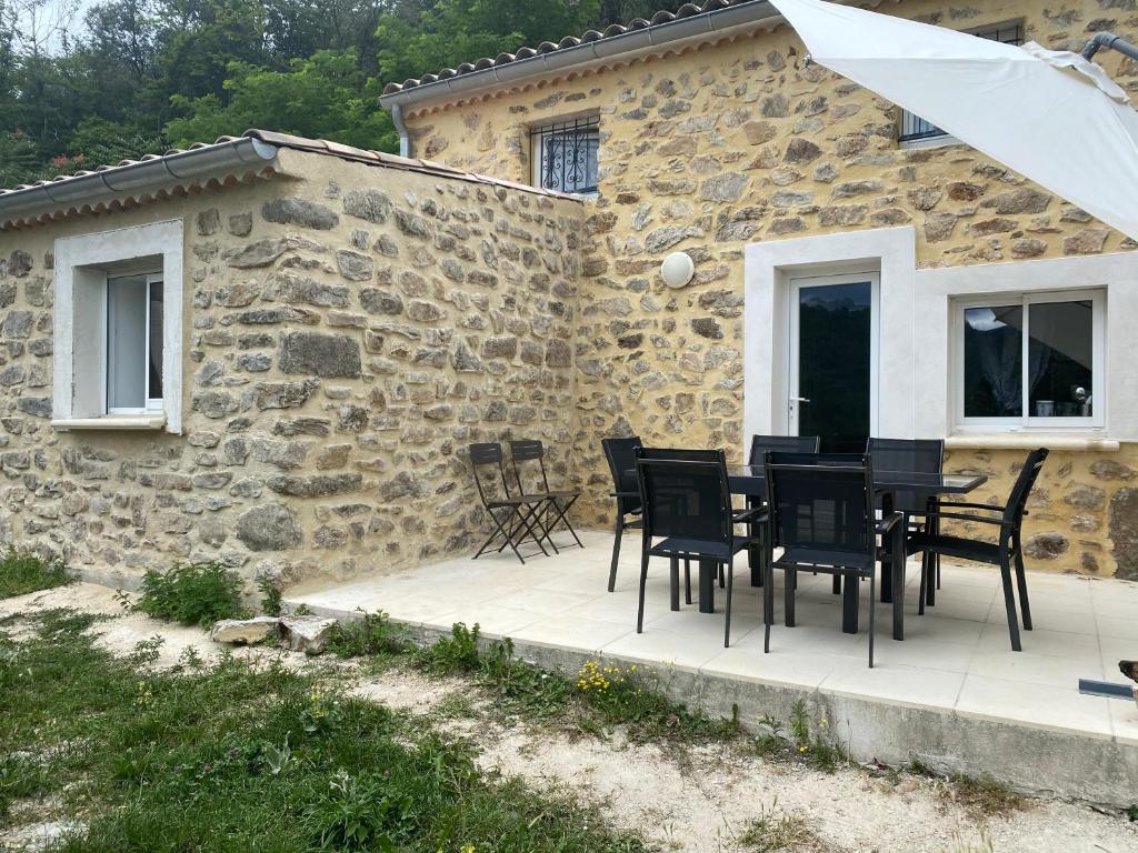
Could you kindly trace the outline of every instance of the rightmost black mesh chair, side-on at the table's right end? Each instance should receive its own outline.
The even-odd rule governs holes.
[[[978,563],[998,565],[1004,581],[1004,606],[1007,610],[1007,630],[1012,637],[1012,649],[1022,652],[1020,643],[1020,620],[1015,611],[1015,594],[1012,590],[1012,569],[1015,568],[1015,581],[1020,589],[1020,612],[1023,614],[1023,629],[1031,630],[1031,604],[1028,602],[1028,579],[1023,569],[1023,516],[1028,514],[1028,497],[1036,485],[1039,471],[1047,459],[1048,450],[1040,447],[1028,454],[1020,470],[1020,475],[1012,486],[1007,504],[990,506],[989,504],[966,504],[955,500],[941,500],[935,511],[927,513],[929,517],[953,521],[970,521],[978,524],[989,524],[999,528],[999,539],[988,543],[968,539],[960,536],[945,536],[939,532],[918,531],[910,533],[906,543],[909,554],[924,552],[943,554],[958,560],[970,560]],[[946,512],[947,510],[947,512]],[[987,515],[960,513],[956,510],[981,510]]]

